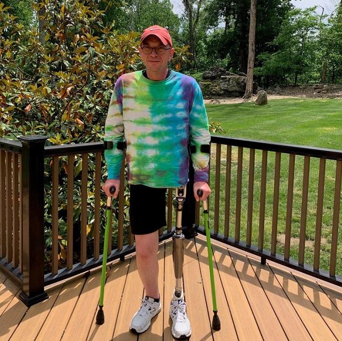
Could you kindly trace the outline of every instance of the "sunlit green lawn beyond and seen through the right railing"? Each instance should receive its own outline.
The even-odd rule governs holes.
[[[210,121],[220,122],[229,137],[264,140],[285,144],[318,146],[331,149],[342,149],[342,100],[340,99],[278,99],[270,100],[266,106],[255,106],[254,103],[207,105]],[[213,227],[213,211],[215,197],[215,146],[212,148],[211,181],[211,227]],[[222,146],[220,177],[220,232],[223,233],[225,204],[225,158],[226,147]],[[275,153],[268,153],[265,237],[264,247],[270,248],[273,186],[274,186]],[[292,241],[291,257],[297,259],[299,227],[301,219],[301,198],[303,184],[304,157],[296,156],[295,179],[293,190]],[[249,149],[243,155],[243,189],[241,214],[241,240],[245,241],[248,196]],[[282,154],[281,178],[278,213],[277,253],[283,254],[284,233],[287,205],[289,156]],[[314,257],[316,208],[318,192],[319,160],[311,158],[309,195],[307,210],[305,263],[312,265]],[[320,268],[329,269],[331,230],[333,216],[333,199],[335,185],[336,161],[327,160],[325,171],[324,208],[322,218],[322,240],[320,251]],[[236,208],[236,172],[237,147],[232,148],[232,172],[230,195],[229,236],[235,235]],[[255,154],[254,200],[252,243],[258,245],[259,208],[260,208],[261,151]],[[342,212],[342,210],[341,210]],[[340,214],[340,221],[342,214]],[[337,255],[337,271],[342,274],[342,228],[339,230]]]

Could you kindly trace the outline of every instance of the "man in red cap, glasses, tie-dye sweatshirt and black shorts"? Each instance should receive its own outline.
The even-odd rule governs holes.
[[[126,73],[115,84],[105,124],[105,140],[114,148],[105,151],[108,179],[106,195],[120,187],[122,150],[115,146],[126,142],[128,183],[130,184],[130,223],[135,235],[136,260],[146,297],[133,316],[130,330],[145,332],[151,318],[161,311],[158,289],[158,230],[166,226],[166,189],[188,182],[188,144],[196,146],[192,160],[195,169],[194,195],[211,192],[208,181],[210,134],[201,90],[195,79],[168,69],[174,49],[166,28],[154,25],[144,30],[139,47],[146,70]],[[189,141],[190,140],[190,141]],[[146,220],[146,212],[153,215]],[[173,293],[170,307],[172,335],[183,339],[191,335],[184,295]]]

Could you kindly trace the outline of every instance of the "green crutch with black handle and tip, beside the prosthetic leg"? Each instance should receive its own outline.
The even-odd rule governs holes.
[[[202,190],[197,191],[197,195],[201,197],[203,195]],[[216,305],[216,291],[215,291],[215,279],[214,279],[214,267],[213,267],[213,253],[211,249],[211,240],[210,240],[210,230],[209,230],[209,210],[208,210],[208,203],[207,199],[203,200],[203,210],[204,210],[204,227],[205,227],[205,234],[207,237],[207,248],[208,248],[208,261],[209,261],[209,273],[210,273],[210,284],[211,284],[211,296],[213,299],[213,322],[212,328],[214,330],[221,329],[221,322],[218,315],[218,308]]]

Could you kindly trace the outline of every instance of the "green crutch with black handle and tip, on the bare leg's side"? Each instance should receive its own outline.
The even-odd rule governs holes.
[[[115,193],[115,187],[111,186],[109,189],[111,194]],[[102,256],[102,273],[101,273],[101,288],[100,288],[100,299],[98,302],[98,314],[96,316],[96,324],[104,323],[104,313],[103,313],[103,296],[104,296],[104,284],[106,282],[106,267],[107,267],[107,253],[108,253],[108,239],[109,232],[111,230],[110,226],[110,215],[112,213],[112,196],[107,198],[107,208],[106,208],[106,228],[104,231],[104,242],[103,242],[103,256]]]

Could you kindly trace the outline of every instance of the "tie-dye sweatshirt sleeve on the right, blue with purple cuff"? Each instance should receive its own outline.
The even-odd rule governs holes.
[[[197,85],[194,102],[190,110],[190,144],[196,146],[196,152],[191,154],[195,170],[194,181],[208,182],[209,154],[200,151],[201,145],[210,144],[210,133],[207,112],[204,106],[202,92]]]

